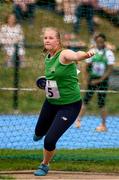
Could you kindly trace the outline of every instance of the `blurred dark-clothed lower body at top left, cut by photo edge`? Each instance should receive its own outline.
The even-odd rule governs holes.
[[[35,0],[14,0],[13,13],[15,14],[19,23],[28,20],[30,25],[33,24],[35,14]]]

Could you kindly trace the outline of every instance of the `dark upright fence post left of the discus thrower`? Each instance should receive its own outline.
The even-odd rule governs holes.
[[[15,53],[13,56],[14,61],[14,77],[13,77],[13,87],[15,90],[13,91],[13,109],[15,111],[18,110],[19,106],[19,55],[18,55],[18,44],[15,44]]]

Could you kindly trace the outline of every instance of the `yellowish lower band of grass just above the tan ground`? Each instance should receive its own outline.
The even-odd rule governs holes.
[[[40,162],[37,160],[4,160],[0,161],[3,166],[1,170],[35,170]],[[59,161],[50,164],[51,170],[62,171],[81,171],[81,172],[104,172],[119,173],[119,161],[78,161],[70,162]]]

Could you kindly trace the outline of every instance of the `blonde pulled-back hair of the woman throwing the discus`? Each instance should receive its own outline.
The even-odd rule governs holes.
[[[56,38],[59,41],[59,46],[60,46],[60,48],[62,48],[61,35],[60,35],[59,30],[57,28],[55,28],[55,27],[46,27],[46,28],[42,29],[43,35],[45,34],[46,31],[54,31],[55,32]],[[44,48],[43,52],[47,52],[47,50]]]

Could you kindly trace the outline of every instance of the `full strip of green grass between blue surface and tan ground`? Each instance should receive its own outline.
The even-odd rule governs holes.
[[[32,170],[42,160],[41,150],[0,150],[0,170]],[[52,170],[119,172],[118,149],[58,150]]]

